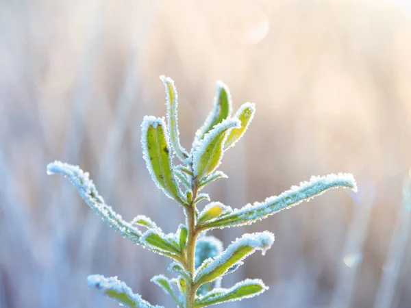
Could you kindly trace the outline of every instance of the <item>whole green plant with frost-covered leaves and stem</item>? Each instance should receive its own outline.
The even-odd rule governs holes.
[[[302,182],[260,203],[232,209],[212,201],[199,211],[197,204],[200,201],[210,201],[208,194],[200,191],[208,183],[227,177],[216,169],[220,166],[225,151],[244,135],[256,108],[252,103],[245,103],[232,116],[229,91],[219,81],[212,112],[203,127],[197,131],[192,149],[187,151],[179,142],[177,91],[174,82],[164,76],[160,79],[166,89],[166,120],[145,116],[141,125],[141,143],[143,157],[155,185],[181,205],[186,214],[185,223],[180,224],[175,233],[165,234],[155,222],[142,215],[136,216],[132,222],[123,220],[112,207],[105,204],[89,179],[88,172],[83,172],[77,166],[53,162],[47,166],[47,172],[61,173],[67,177],[91,209],[124,238],[172,259],[169,271],[174,277],[158,275],[151,281],[169,294],[177,307],[206,307],[261,294],[268,287],[260,279],[246,279],[227,289],[221,287],[221,279],[241,266],[243,260],[255,251],[262,251],[264,255],[274,242],[273,233],[264,231],[242,235],[224,250],[221,241],[206,236],[206,231],[251,224],[332,188],[356,190],[356,182],[352,175],[342,173],[312,177],[310,181]],[[174,155],[181,164],[173,164]],[[142,300],[116,277],[92,275],[88,277],[88,285],[120,305],[160,307]]]

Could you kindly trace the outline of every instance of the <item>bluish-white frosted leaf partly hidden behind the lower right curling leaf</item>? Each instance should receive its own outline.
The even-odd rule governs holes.
[[[220,255],[223,252],[223,242],[214,236],[203,236],[199,238],[195,245],[195,269],[200,270],[200,267],[206,267],[208,262],[212,262],[212,258]],[[207,261],[206,261],[207,260]],[[220,287],[221,279],[204,283],[197,290],[197,294],[206,294],[214,287]]]

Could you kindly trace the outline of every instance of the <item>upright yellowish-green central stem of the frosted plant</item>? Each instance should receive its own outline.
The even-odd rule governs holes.
[[[190,272],[192,279],[194,278],[195,271],[195,241],[197,239],[197,229],[195,226],[195,199],[197,198],[197,183],[192,181],[192,201],[190,207],[186,208],[187,220],[188,220],[188,240],[187,240],[187,270]],[[186,290],[186,308],[194,308],[195,294],[197,287],[194,281],[190,281]]]

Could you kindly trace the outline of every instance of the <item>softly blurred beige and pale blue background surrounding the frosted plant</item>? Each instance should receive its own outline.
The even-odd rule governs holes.
[[[394,0],[0,1],[0,307],[116,307],[87,287],[117,275],[153,304],[169,260],[127,242],[84,204],[54,159],[90,171],[127,220],[166,232],[184,218],[149,177],[140,122],[165,115],[175,80],[188,148],[215,82],[234,110],[257,104],[223,159],[212,200],[241,207],[311,175],[352,172],[332,190],[248,227],[275,244],[224,287],[270,290],[221,307],[411,307],[411,4]],[[200,207],[202,207],[201,205]]]

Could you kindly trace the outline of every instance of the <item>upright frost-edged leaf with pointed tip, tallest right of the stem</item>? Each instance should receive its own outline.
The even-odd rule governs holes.
[[[204,125],[195,133],[193,146],[197,144],[215,125],[223,122],[232,112],[232,101],[229,90],[221,80],[216,84],[216,96],[210,114],[206,118]]]

